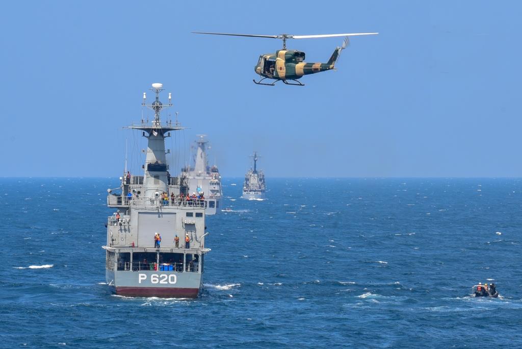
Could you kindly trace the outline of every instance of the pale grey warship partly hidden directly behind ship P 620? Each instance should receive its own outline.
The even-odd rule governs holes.
[[[221,190],[221,176],[216,165],[208,166],[207,144],[205,135],[198,135],[196,140],[196,154],[194,167],[181,169],[181,176],[187,179],[189,193],[203,193],[205,211],[207,215],[215,215],[219,212],[223,192]]]

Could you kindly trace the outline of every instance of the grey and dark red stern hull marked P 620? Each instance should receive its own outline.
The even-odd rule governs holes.
[[[201,274],[164,271],[105,271],[113,292],[127,297],[197,298]]]

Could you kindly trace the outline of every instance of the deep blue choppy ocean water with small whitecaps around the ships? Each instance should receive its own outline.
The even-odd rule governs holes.
[[[522,347],[521,179],[223,184],[180,300],[104,283],[117,179],[0,179],[0,346]],[[500,298],[468,296],[492,279]]]

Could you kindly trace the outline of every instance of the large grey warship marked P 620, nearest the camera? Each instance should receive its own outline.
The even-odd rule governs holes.
[[[108,189],[107,204],[117,212],[107,221],[105,278],[117,295],[196,298],[210,251],[205,204],[187,199],[187,183],[170,176],[165,138],[183,127],[160,120],[161,110],[172,106],[171,94],[164,105],[159,100],[163,85],[152,84],[151,90],[156,100],[146,104],[144,93],[142,106],[154,111],[154,120],[127,127],[148,139],[144,175],[124,172],[120,187]]]

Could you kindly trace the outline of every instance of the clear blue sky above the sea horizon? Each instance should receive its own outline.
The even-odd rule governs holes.
[[[125,139],[129,155],[145,146],[121,126],[161,82],[190,127],[180,143],[207,134],[226,177],[252,150],[272,177],[521,177],[521,13],[516,1],[4,2],[0,176],[120,175]],[[266,87],[253,67],[279,40],[191,31],[380,34],[353,38],[338,71],[305,87]],[[317,62],[341,42],[288,46]]]

